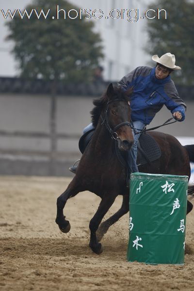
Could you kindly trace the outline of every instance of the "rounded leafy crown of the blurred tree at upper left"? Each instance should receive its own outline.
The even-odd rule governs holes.
[[[8,40],[14,41],[13,53],[18,61],[21,76],[43,78],[47,80],[88,81],[93,68],[103,57],[101,39],[93,32],[94,23],[82,18],[64,19],[60,12],[56,19],[56,5],[66,13],[79,8],[65,0],[33,0],[26,7],[30,13],[41,9],[45,14],[50,9],[47,19],[37,19],[32,13],[30,19],[23,19],[16,13],[7,25]],[[23,13],[23,11],[22,11]],[[75,13],[70,14],[71,17]],[[55,16],[55,19],[52,19]]]

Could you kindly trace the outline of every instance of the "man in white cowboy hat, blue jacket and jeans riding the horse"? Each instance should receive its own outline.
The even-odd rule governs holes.
[[[124,90],[133,87],[133,93],[130,97],[131,121],[136,129],[144,129],[148,125],[155,114],[165,105],[178,121],[185,119],[186,105],[178,96],[174,82],[171,80],[170,74],[174,70],[180,70],[175,65],[175,55],[167,52],[160,58],[153,55],[152,60],[156,62],[156,66],[151,68],[148,66],[139,66],[128,75],[123,77],[118,85]],[[94,129],[89,124],[83,133]],[[133,131],[132,131],[133,132]],[[128,152],[129,172],[138,172],[137,167],[137,142],[140,133],[134,134],[134,143]],[[75,173],[76,167],[69,168]]]

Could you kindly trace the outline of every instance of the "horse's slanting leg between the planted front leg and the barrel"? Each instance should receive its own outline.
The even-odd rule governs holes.
[[[129,195],[125,195],[123,196],[121,208],[116,213],[114,213],[110,218],[101,223],[99,228],[97,229],[98,242],[100,242],[105,233],[107,233],[109,227],[112,226],[115,222],[117,222],[119,218],[121,218],[128,211],[129,211]]]

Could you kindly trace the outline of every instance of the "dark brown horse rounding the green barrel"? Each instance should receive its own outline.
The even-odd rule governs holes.
[[[129,103],[131,94],[132,90],[124,92],[119,87],[113,87],[111,83],[106,93],[93,101],[95,105],[91,112],[95,127],[93,137],[81,157],[76,176],[65,192],[57,198],[55,222],[65,233],[70,230],[70,223],[63,213],[69,198],[86,190],[101,198],[99,207],[89,223],[89,246],[96,254],[100,254],[103,250],[100,240],[108,228],[129,211],[126,168],[115,155],[114,143],[118,143],[119,150],[123,152],[129,151],[133,144],[133,124],[130,119]],[[149,131],[147,134],[151,135],[160,146],[161,157],[154,162],[141,165],[139,171],[150,174],[187,175],[190,178],[190,160],[194,162],[194,145],[188,148],[181,146],[175,137],[162,132]],[[188,193],[194,193],[194,186],[188,189]],[[123,195],[121,208],[100,225],[119,194]],[[187,213],[192,208],[192,203],[187,201]]]

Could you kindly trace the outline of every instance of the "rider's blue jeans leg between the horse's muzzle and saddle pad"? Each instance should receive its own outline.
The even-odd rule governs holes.
[[[146,125],[142,121],[133,121],[133,126],[138,131],[138,129],[144,129]],[[129,173],[139,172],[137,167],[137,143],[141,133],[134,134],[132,130],[132,134],[134,137],[134,144],[128,152]]]

